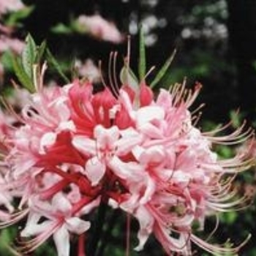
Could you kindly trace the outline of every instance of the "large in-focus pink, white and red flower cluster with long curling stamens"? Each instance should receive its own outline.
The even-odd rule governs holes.
[[[244,152],[219,159],[212,146],[240,143],[252,132],[241,127],[218,137],[225,127],[197,129],[189,108],[200,84],[154,97],[144,80],[117,86],[113,79],[98,92],[89,81],[40,81],[20,113],[6,104],[13,118],[1,119],[0,227],[26,217],[20,252],[53,236],[58,255],[69,255],[71,234],[83,239],[102,204],[138,220],[138,251],[153,234],[167,255],[192,255],[192,243],[219,255],[237,252],[201,240],[192,226],[203,230],[208,214],[243,203],[226,174],[250,160]]]

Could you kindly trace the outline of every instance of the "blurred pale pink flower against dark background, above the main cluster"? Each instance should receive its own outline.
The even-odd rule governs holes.
[[[80,15],[77,22],[81,31],[85,31],[97,39],[114,43],[119,43],[124,40],[124,37],[120,31],[118,31],[114,23],[105,20],[99,15]]]

